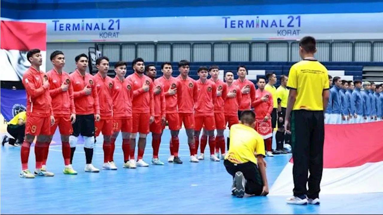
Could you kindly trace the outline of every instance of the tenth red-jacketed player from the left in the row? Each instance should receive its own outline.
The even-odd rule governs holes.
[[[209,137],[209,148],[210,148],[210,160],[219,161],[214,154],[215,150],[215,137],[214,130],[216,129],[214,120],[214,104],[217,100],[217,88],[213,81],[208,80],[208,68],[198,68],[198,98],[197,103],[194,105],[194,118],[195,118],[195,129],[194,138],[196,141],[200,137],[202,127],[205,125]],[[198,160],[205,158],[204,152],[206,148],[206,142],[201,141],[201,154],[198,156]],[[198,147],[197,147],[198,149]]]

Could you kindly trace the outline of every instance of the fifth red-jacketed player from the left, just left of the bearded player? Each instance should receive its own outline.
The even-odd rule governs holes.
[[[115,64],[116,76],[113,79],[113,136],[111,140],[110,160],[113,162],[116,138],[121,131],[122,151],[124,153],[124,168],[129,166],[130,135],[132,133],[132,83],[125,78],[126,62],[119,61]]]

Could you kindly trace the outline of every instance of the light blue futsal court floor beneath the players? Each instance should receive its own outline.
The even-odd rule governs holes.
[[[190,163],[185,130],[180,131],[182,165],[167,163],[169,130],[164,131],[159,158],[164,166],[124,169],[121,135],[116,140],[117,171],[102,170],[102,137],[97,138],[93,165],[100,173],[85,173],[82,145],[75,151],[73,167],[78,175],[62,173],[64,160],[59,135],[49,150],[47,167],[52,178],[20,178],[20,148],[0,148],[0,214],[377,214],[383,213],[383,194],[321,195],[321,205],[287,205],[289,196],[245,197],[231,195],[232,179],[223,161],[205,158]],[[209,148],[206,148],[208,154]],[[137,149],[136,149],[137,154]],[[290,155],[267,157],[269,189]],[[144,160],[152,158],[151,135]],[[34,169],[31,147],[29,169]]]

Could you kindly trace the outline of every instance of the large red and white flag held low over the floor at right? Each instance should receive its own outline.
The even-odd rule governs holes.
[[[383,121],[325,125],[324,169],[320,194],[383,192]],[[269,195],[292,195],[293,160]]]

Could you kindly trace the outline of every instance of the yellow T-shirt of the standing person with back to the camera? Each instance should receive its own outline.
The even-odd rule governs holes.
[[[323,111],[323,90],[328,90],[327,68],[317,60],[301,60],[290,68],[287,87],[297,91],[293,110]]]

